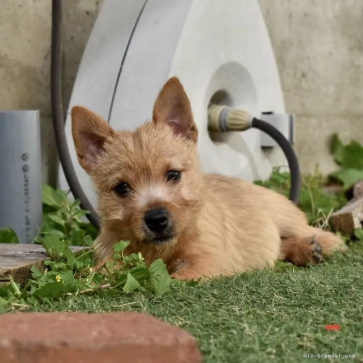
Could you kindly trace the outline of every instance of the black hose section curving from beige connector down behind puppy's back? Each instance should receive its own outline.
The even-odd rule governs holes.
[[[284,152],[290,169],[290,200],[292,200],[295,204],[299,204],[301,191],[300,167],[298,158],[296,157],[290,142],[279,130],[265,121],[253,118],[251,126],[269,135],[277,142]]]

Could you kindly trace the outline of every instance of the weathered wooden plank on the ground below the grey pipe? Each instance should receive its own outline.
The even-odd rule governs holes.
[[[87,250],[87,247],[70,246],[73,252]],[[40,244],[0,243],[0,284],[8,283],[9,275],[15,282],[24,285],[31,277],[30,267],[44,268],[44,260],[49,258]]]

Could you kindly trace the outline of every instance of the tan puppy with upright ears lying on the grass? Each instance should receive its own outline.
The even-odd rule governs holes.
[[[263,269],[278,259],[305,266],[344,247],[333,233],[309,226],[285,196],[202,172],[198,131],[176,77],[157,97],[152,122],[115,131],[75,106],[72,135],[98,195],[100,263],[116,242],[129,240],[126,254],[140,251],[148,265],[162,258],[173,277],[188,280]]]

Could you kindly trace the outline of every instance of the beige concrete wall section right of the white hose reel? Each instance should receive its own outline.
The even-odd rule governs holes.
[[[284,91],[297,115],[303,171],[335,170],[329,138],[363,143],[363,1],[259,0]]]

